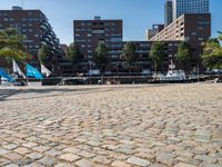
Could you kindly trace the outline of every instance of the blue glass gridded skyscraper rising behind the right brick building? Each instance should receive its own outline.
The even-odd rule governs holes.
[[[209,13],[210,0],[172,0],[173,20],[184,13]]]

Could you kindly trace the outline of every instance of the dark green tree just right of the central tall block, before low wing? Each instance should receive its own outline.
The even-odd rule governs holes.
[[[137,60],[137,46],[134,42],[127,42],[123,48],[123,53],[120,56],[120,59],[122,60],[122,65],[124,68],[129,69],[129,72]]]

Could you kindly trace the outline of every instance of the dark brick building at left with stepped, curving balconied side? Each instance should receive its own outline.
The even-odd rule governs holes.
[[[50,48],[52,56],[61,53],[60,41],[40,10],[23,10],[21,7],[0,10],[0,30],[7,28],[16,28],[23,36],[23,45],[33,57],[32,63],[38,63],[37,56],[42,45]],[[58,57],[52,57],[52,61],[57,61]]]

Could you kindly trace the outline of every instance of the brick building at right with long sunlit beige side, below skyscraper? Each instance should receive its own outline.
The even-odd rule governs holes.
[[[183,14],[151,38],[151,41],[186,41],[193,50],[191,68],[203,69],[200,56],[202,45],[211,37],[211,14]]]

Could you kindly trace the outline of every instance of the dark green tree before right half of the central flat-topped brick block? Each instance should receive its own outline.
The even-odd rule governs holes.
[[[108,48],[103,42],[99,42],[98,47],[95,48],[95,63],[100,68],[102,84],[105,66],[108,62]]]

